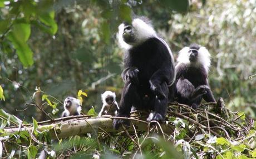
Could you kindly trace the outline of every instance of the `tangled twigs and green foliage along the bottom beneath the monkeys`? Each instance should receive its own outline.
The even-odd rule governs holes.
[[[18,128],[16,131],[9,133],[6,126],[14,123],[7,122],[0,112],[2,122],[8,123],[1,126],[2,157],[35,158],[43,152],[51,158],[255,158],[256,126],[253,120],[245,117],[244,113],[232,112],[225,107],[216,109],[216,104],[201,107],[205,109],[194,110],[173,103],[168,107],[166,124],[151,125],[141,131],[135,129],[137,125],[134,123],[131,130],[136,131],[129,132],[126,129],[107,132],[111,128],[105,127],[107,130],[104,130],[99,125],[90,125],[92,129],[88,132],[91,133],[67,139],[56,139],[54,136],[61,131],[68,133],[73,130],[58,126],[65,123],[72,125],[74,119],[79,120],[79,117],[56,119],[54,124],[47,121],[50,125],[33,119],[33,124],[19,124],[11,127]],[[135,120],[139,117],[137,115],[143,118],[146,114],[135,112],[132,114]],[[81,120],[95,120],[95,117],[80,117],[83,117]],[[165,131],[163,126],[170,127],[172,131]],[[31,127],[32,131],[29,131]]]

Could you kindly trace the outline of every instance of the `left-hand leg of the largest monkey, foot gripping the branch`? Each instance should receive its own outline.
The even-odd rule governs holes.
[[[135,84],[126,82],[124,89],[122,90],[119,112],[117,117],[130,117],[131,106],[141,105],[141,99],[137,93],[137,88]],[[114,119],[113,126],[115,129],[119,129],[121,124],[129,125],[128,120],[124,119]]]

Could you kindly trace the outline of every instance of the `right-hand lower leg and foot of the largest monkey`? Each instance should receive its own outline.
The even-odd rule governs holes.
[[[168,96],[168,86],[164,82],[161,84],[161,90],[163,90],[164,95]],[[166,110],[167,110],[167,104],[168,104],[168,98],[159,98],[159,96],[155,96],[152,99],[151,104],[154,104],[154,111],[150,113],[149,117],[147,117],[147,121],[163,121],[165,118]]]

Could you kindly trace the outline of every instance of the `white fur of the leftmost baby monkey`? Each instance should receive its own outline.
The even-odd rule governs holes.
[[[70,109],[66,109],[66,104],[67,104],[68,100],[71,100],[71,107],[70,107]],[[69,116],[70,114],[75,113],[76,111],[80,114],[81,111],[82,111],[82,107],[80,105],[80,100],[76,99],[76,98],[73,98],[71,96],[68,96],[65,99],[63,106],[64,106],[64,109],[65,109],[65,112],[66,112],[67,116]]]

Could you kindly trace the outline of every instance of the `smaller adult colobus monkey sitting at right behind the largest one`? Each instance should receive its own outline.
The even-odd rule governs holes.
[[[202,98],[206,102],[215,102],[208,84],[208,50],[198,44],[191,44],[180,50],[177,60],[175,98],[178,102],[192,107],[198,107]]]

